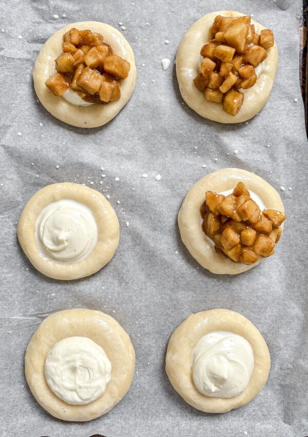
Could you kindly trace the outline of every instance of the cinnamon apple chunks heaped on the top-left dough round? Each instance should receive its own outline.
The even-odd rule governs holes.
[[[62,96],[71,89],[86,102],[120,99],[119,80],[127,78],[130,64],[113,54],[103,35],[72,28],[63,35],[62,49],[55,60],[56,72],[45,82],[52,94]]]

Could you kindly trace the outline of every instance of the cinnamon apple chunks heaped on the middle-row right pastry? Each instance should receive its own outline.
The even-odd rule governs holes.
[[[242,182],[228,196],[207,191],[200,213],[202,230],[214,241],[215,249],[242,264],[274,254],[285,220],[280,211],[261,212]]]

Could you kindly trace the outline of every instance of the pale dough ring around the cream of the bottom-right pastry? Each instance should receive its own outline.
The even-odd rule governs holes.
[[[254,369],[246,389],[229,398],[209,397],[195,387],[191,373],[191,352],[206,334],[228,331],[244,337],[254,353]],[[225,413],[250,402],[266,384],[271,358],[258,329],[239,313],[211,309],[190,315],[171,335],[166,354],[166,372],[174,389],[184,400],[207,413]]]

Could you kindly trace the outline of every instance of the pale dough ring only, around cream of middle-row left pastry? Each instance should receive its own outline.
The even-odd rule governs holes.
[[[89,208],[97,225],[97,242],[80,261],[52,259],[37,245],[37,217],[46,206],[63,199]],[[18,222],[17,235],[26,256],[37,270],[50,278],[72,280],[92,275],[111,260],[119,245],[120,227],[117,214],[101,193],[80,184],[60,183],[48,185],[31,197]]]

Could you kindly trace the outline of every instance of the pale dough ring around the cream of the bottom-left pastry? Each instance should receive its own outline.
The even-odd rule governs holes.
[[[87,405],[70,405],[49,388],[44,373],[47,354],[67,337],[88,337],[106,352],[112,366],[104,394]],[[25,374],[39,404],[54,417],[84,422],[110,411],[125,396],[134,374],[135,353],[128,334],[112,317],[91,309],[67,309],[47,317],[33,334],[25,355]]]

